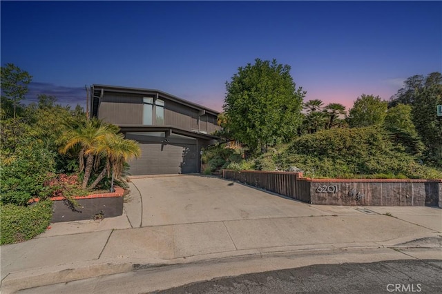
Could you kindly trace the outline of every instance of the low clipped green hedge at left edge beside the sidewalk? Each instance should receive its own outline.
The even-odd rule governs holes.
[[[0,244],[23,242],[46,231],[52,217],[52,201],[30,206],[0,204]]]

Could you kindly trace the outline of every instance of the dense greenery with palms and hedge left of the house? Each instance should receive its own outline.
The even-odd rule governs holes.
[[[125,162],[140,155],[117,126],[88,119],[80,106],[61,106],[47,95],[21,104],[31,79],[13,64],[1,68],[1,244],[44,232],[51,197],[75,208],[75,197],[109,191],[114,182],[124,185]],[[39,202],[32,204],[35,198]]]

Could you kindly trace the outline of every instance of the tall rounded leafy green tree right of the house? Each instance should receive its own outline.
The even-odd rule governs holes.
[[[230,82],[224,112],[227,128],[252,152],[265,152],[268,146],[290,139],[301,122],[305,91],[296,89],[290,66],[255,60],[238,68]]]

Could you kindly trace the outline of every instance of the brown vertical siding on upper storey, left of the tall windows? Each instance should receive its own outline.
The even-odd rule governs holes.
[[[143,98],[128,94],[104,94],[98,118],[112,124],[142,124]]]

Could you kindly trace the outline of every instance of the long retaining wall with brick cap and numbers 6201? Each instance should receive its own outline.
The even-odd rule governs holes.
[[[311,204],[442,207],[442,179],[310,179],[258,170],[222,170],[222,177]]]

